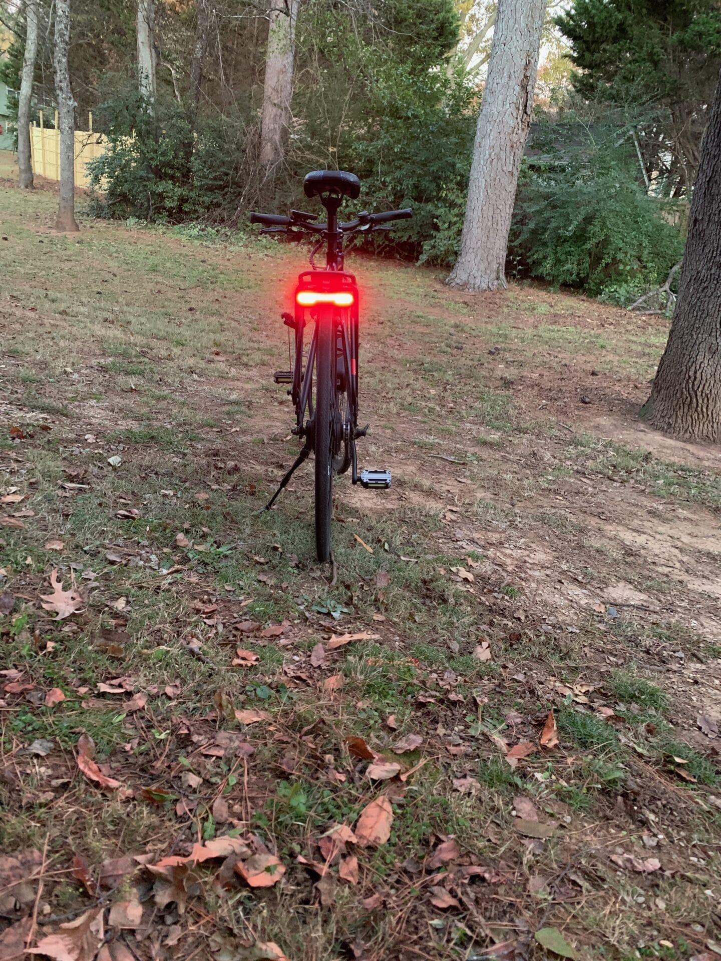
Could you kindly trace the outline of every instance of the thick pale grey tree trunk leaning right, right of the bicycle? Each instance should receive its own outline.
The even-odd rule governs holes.
[[[531,126],[545,12],[546,0],[499,0],[451,286],[476,291],[506,286],[510,217]]]

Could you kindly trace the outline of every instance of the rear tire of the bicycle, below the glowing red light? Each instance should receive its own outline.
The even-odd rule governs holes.
[[[333,408],[336,400],[333,308],[324,308],[318,317],[315,370],[315,550],[318,560],[323,564],[331,559],[333,515]]]

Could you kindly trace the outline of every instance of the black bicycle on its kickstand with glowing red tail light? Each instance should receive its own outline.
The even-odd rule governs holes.
[[[390,230],[390,221],[412,216],[410,209],[385,213],[359,213],[347,224],[339,223],[337,211],[343,198],[357,200],[360,180],[344,170],[315,170],[303,182],[306,197],[319,197],[328,212],[327,223],[317,223],[314,213],[291,210],[289,217],[274,213],[251,213],[252,224],[264,224],[261,234],[286,234],[300,239],[317,234],[311,251],[312,270],[298,277],[295,309],[284,313],[286,327],[294,334],[290,370],[276,371],[276,383],[290,384],[288,394],[295,406],[296,426],[292,432],[305,443],[295,463],[266,505],[270,510],[294,472],[312,453],[315,456],[315,547],[318,560],[331,559],[333,475],[352,468],[353,483],[386,489],[390,472],[358,473],[356,441],[368,425],[358,426],[359,293],[353,274],[343,269],[343,237]],[[314,257],[326,244],[326,266],[320,269]],[[306,329],[311,329],[310,339]],[[288,354],[290,341],[288,339]],[[314,371],[314,376],[313,376]],[[313,382],[315,396],[313,400]],[[307,416],[308,415],[308,416]]]

